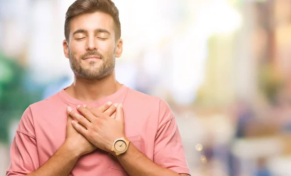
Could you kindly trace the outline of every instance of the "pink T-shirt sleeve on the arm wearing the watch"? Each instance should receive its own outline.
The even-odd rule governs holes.
[[[164,101],[160,102],[153,161],[178,174],[190,175],[175,115]]]

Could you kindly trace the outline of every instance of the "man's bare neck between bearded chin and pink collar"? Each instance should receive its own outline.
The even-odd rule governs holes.
[[[112,95],[121,86],[116,81],[114,72],[102,80],[87,80],[75,76],[74,83],[66,88],[65,92],[75,99],[84,102],[95,102],[98,99]]]

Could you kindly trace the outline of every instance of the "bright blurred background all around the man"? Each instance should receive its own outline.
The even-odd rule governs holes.
[[[23,111],[73,81],[74,0],[0,0],[0,176]],[[291,0],[113,0],[117,80],[177,116],[193,176],[291,176]]]

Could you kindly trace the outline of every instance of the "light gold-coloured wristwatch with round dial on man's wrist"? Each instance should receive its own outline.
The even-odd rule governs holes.
[[[113,146],[109,154],[116,158],[116,156],[123,154],[127,151],[130,141],[126,137],[121,137],[113,141]]]

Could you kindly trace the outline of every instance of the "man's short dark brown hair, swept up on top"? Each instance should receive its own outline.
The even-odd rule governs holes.
[[[102,12],[111,15],[115,23],[115,39],[120,39],[119,12],[111,0],[76,0],[65,14],[65,39],[69,39],[70,21],[78,15]]]

